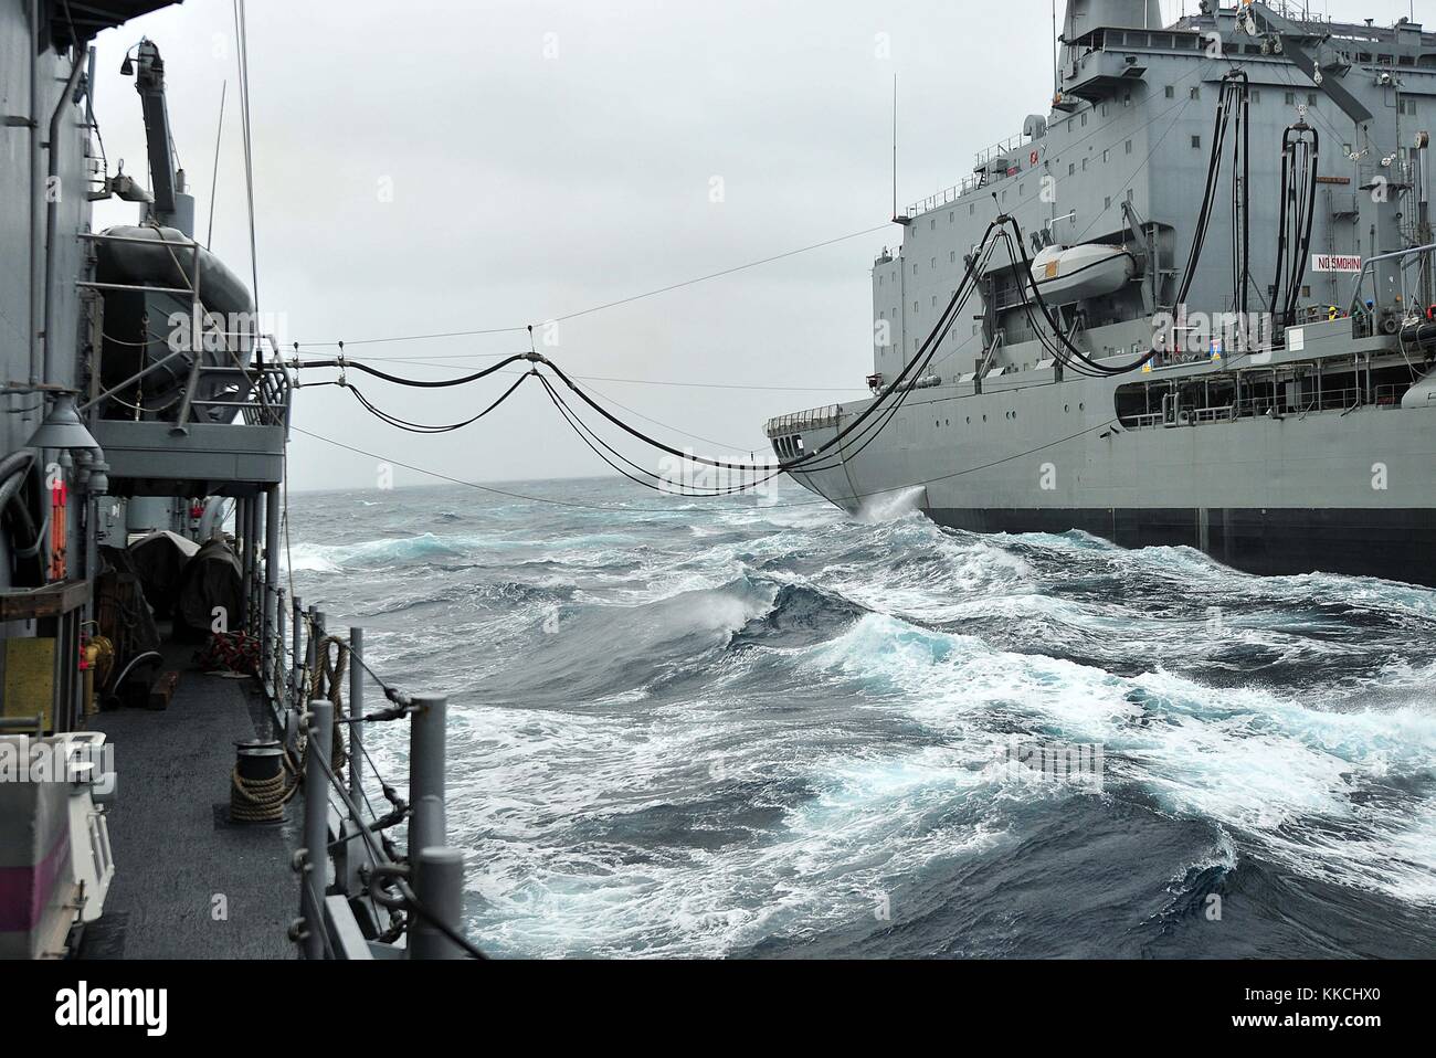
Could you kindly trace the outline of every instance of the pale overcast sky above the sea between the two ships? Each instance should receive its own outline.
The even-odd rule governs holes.
[[[1180,7],[1163,3],[1169,17]],[[1313,7],[1390,23],[1409,4]],[[880,227],[895,73],[903,205],[959,182],[1051,93],[1050,0],[250,0],[247,14],[260,309],[314,357],[336,350],[309,342],[541,324]],[[231,0],[188,0],[98,40],[111,165],[146,178],[138,96],[119,76],[141,36],[165,59],[201,238],[228,82],[213,248],[248,276]],[[132,211],[101,205],[96,227]],[[791,386],[592,383],[666,423],[653,429],[676,446],[763,455],[768,416],[864,395],[869,271],[896,233],[564,322],[543,352],[605,379]],[[510,333],[349,352],[444,378],[487,362],[451,357],[526,347]],[[404,418],[452,422],[508,382],[360,385]],[[531,383],[435,438],[392,429],[333,388],[300,392],[294,423],[470,481],[606,472]],[[375,464],[296,434],[290,484],[372,487]],[[395,484],[432,479],[401,468]]]

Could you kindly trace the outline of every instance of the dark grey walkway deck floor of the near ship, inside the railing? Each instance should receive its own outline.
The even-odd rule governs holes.
[[[299,914],[290,850],[299,813],[276,825],[231,827],[234,744],[270,738],[253,679],[201,672],[195,647],[167,642],[165,669],[181,673],[167,711],[95,718],[115,745],[108,805],[115,880],[105,917],[86,930],[90,959],[293,959]],[[223,913],[221,913],[223,912]]]

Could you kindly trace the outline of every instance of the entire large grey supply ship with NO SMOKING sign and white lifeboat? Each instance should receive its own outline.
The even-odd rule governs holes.
[[[1436,584],[1436,34],[1071,0],[1054,88],[895,215],[875,396],[770,421],[788,472],[852,511]]]

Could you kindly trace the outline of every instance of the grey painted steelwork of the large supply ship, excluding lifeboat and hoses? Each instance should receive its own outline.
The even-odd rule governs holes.
[[[1292,27],[1271,14],[1269,24],[1292,34],[1282,37],[1281,55],[1267,55],[1261,37],[1238,29],[1234,10],[1163,29],[1149,22],[1142,3],[1074,0],[1068,7],[1061,95],[1048,116],[1028,119],[1032,135],[982,152],[964,185],[912,207],[899,218],[902,248],[876,261],[875,334],[882,339],[887,330],[892,339],[875,345],[875,372],[885,385],[912,362],[998,212],[1015,217],[1028,237],[1050,231],[1064,245],[1101,243],[1136,253],[1143,261],[1136,280],[1070,307],[1064,323],[1080,317],[1074,343],[1107,363],[1129,363],[1152,349],[1155,316],[1178,312],[1172,303],[1206,185],[1221,79],[1232,69],[1251,83],[1254,310],[1265,309],[1277,267],[1282,132],[1302,119],[1323,141],[1313,257],[1370,261],[1432,241],[1417,225],[1426,210],[1425,151],[1414,144],[1436,121],[1436,34],[1410,23]],[[1213,33],[1221,55],[1209,50]],[[1318,56],[1325,88],[1292,62],[1298,43]],[[1341,103],[1328,90],[1337,85]],[[1363,112],[1371,118],[1358,126]],[[1235,307],[1229,179],[1228,159],[1188,313]],[[909,491],[949,525],[1086,528],[1119,543],[1203,547],[1258,571],[1380,571],[1436,583],[1432,550],[1393,551],[1379,561],[1353,554],[1380,550],[1403,527],[1417,540],[1436,540],[1436,413],[1430,402],[1402,396],[1423,375],[1433,378],[1432,346],[1404,347],[1380,327],[1369,337],[1360,320],[1325,320],[1328,306],[1353,304],[1357,276],[1313,271],[1313,263],[1305,263],[1298,299],[1304,322],[1285,349],[1254,340],[1244,349],[1228,345],[1219,360],[1167,357],[1155,370],[1117,379],[1071,372],[1060,379],[1015,287],[1004,287],[1011,260],[999,247],[984,277],[992,283],[979,286],[923,369],[922,388],[892,422],[876,438],[852,435],[841,455],[834,451],[793,477],[847,510]],[[1376,310],[1393,319],[1413,317],[1419,293],[1436,300],[1420,280],[1420,268],[1403,273],[1381,261],[1358,300],[1373,297]],[[975,314],[981,319],[972,320]],[[1318,314],[1320,322],[1310,322]],[[1279,332],[1256,333],[1269,339]],[[976,378],[988,350],[987,373]],[[1354,406],[1334,403],[1341,378],[1356,378],[1363,389]],[[1288,392],[1294,379],[1297,389]],[[1317,399],[1313,389],[1320,392],[1323,379],[1328,392]],[[1175,413],[1170,422],[1123,425],[1117,390],[1133,383],[1150,386],[1157,408],[1149,411],[1160,412],[1160,396],[1172,393],[1188,419]],[[1241,385],[1252,413],[1223,418],[1193,403],[1192,393],[1208,383]],[[1275,388],[1275,415],[1252,411],[1264,386]],[[775,419],[768,425],[774,449],[784,461],[811,454],[870,405]],[[1169,531],[1172,511],[1186,512],[1178,523],[1188,520],[1190,533]],[[1228,538],[1226,525],[1258,537],[1269,528],[1272,537],[1252,557],[1252,547]],[[1291,560],[1274,560],[1267,544],[1288,548]]]

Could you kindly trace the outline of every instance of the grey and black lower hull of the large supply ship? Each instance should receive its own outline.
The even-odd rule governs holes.
[[[1124,429],[1114,380],[912,395],[876,436],[794,479],[859,512],[902,498],[974,533],[1080,530],[1192,547],[1256,574],[1334,573],[1436,587],[1436,412]],[[839,425],[804,435],[814,451]]]

